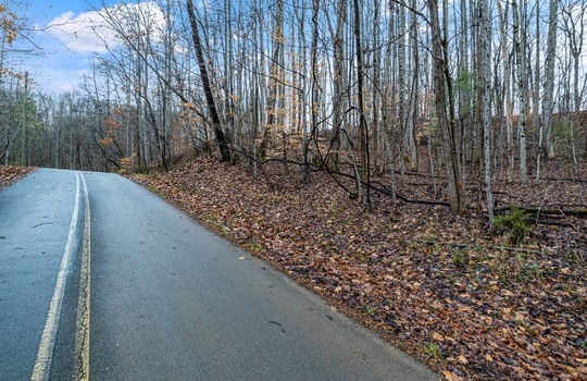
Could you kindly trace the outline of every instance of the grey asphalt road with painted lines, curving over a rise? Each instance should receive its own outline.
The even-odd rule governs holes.
[[[0,380],[72,377],[438,378],[124,177],[38,170],[0,192]]]

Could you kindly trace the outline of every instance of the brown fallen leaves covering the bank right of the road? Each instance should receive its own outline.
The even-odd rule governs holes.
[[[365,213],[325,174],[301,185],[282,172],[266,165],[252,179],[197,159],[133,179],[446,379],[587,378],[585,220],[538,225],[525,250],[498,249],[507,238],[488,234],[473,212],[375,194]],[[502,202],[587,199],[585,184],[501,185]]]

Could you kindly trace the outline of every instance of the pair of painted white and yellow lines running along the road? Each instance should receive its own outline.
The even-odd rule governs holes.
[[[88,187],[83,173],[75,172],[76,190],[74,210],[70,223],[67,241],[61,257],[61,265],[55,281],[55,288],[49,312],[42,330],[37,358],[33,368],[32,381],[47,381],[51,373],[51,360],[55,346],[61,307],[67,284],[67,275],[72,263],[74,239],[77,236],[77,221],[79,218],[79,204],[82,190],[84,193],[84,235],[82,243],[82,267],[79,273],[79,296],[77,300],[77,319],[75,332],[75,373],[74,380],[89,380],[89,346],[90,346],[90,206]],[[83,189],[80,187],[83,184]]]

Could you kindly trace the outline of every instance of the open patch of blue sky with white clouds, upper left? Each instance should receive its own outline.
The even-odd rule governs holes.
[[[33,90],[60,94],[73,90],[83,82],[97,53],[104,52],[104,45],[89,27],[98,20],[97,10],[111,0],[28,0],[26,8],[16,8],[18,16],[25,15],[35,33],[33,40],[42,50],[27,56],[21,71],[28,71]]]

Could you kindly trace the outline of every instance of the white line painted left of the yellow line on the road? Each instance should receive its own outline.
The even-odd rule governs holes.
[[[33,368],[33,374],[30,376],[32,381],[48,380],[51,370],[51,358],[53,356],[53,348],[55,346],[57,331],[59,328],[59,319],[61,316],[61,306],[63,305],[63,295],[65,293],[65,285],[67,283],[67,273],[70,272],[73,242],[76,235],[77,219],[79,216],[78,172],[75,172],[75,204],[72,213],[72,221],[70,223],[70,233],[67,234],[65,249],[63,250],[63,256],[61,257],[61,266],[59,268],[59,273],[55,281],[53,297],[51,298],[51,303],[49,304],[49,311],[47,312],[47,320],[45,321],[42,336],[39,343],[39,348],[37,351],[35,367]]]

